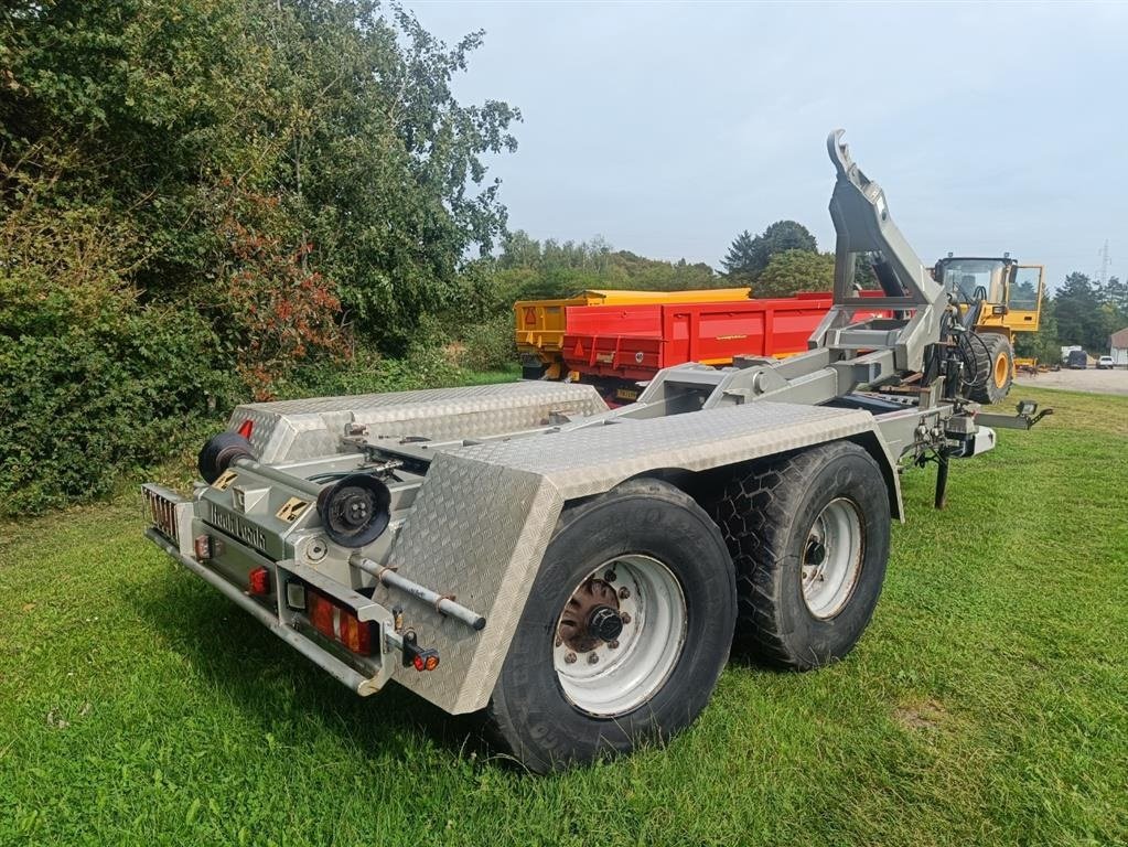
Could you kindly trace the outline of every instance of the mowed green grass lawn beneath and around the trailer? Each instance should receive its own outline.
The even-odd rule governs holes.
[[[1128,842],[1128,398],[904,478],[844,662],[734,659],[666,749],[537,778],[474,722],[359,699],[141,538],[0,526],[0,844]]]

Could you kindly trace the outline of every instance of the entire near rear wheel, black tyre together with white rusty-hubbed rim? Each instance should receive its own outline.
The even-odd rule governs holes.
[[[708,514],[641,478],[565,509],[485,711],[536,773],[693,723],[729,658],[735,583]]]

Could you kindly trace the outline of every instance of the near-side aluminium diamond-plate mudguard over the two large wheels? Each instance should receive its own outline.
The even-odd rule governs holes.
[[[755,403],[439,453],[389,564],[488,623],[473,633],[402,594],[380,598],[402,603],[420,642],[442,655],[435,671],[396,680],[448,712],[486,705],[567,500],[649,470],[705,470],[867,432],[880,442],[866,412]]]

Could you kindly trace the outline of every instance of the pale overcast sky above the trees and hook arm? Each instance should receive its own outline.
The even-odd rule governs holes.
[[[793,218],[834,247],[827,132],[925,263],[1128,272],[1128,3],[408,3],[485,29],[465,102],[519,106],[510,226],[719,266]]]

